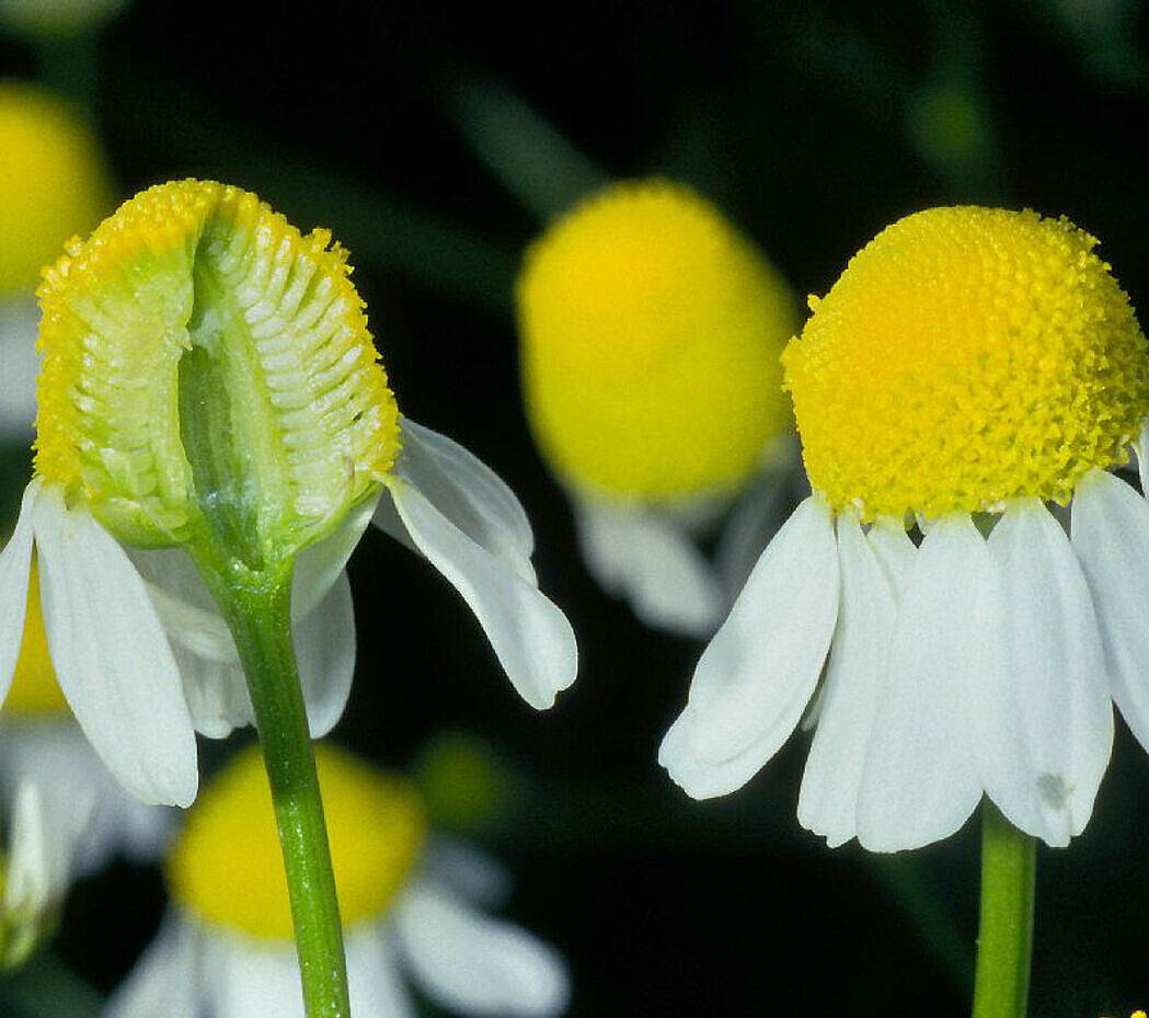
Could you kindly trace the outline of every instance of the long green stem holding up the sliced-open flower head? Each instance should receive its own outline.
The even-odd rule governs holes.
[[[348,1018],[342,924],[319,780],[291,642],[291,569],[221,591],[255,709],[287,873],[308,1018]]]

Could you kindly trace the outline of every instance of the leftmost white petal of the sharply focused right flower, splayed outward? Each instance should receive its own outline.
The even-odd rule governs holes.
[[[703,651],[658,762],[695,799],[745,785],[802,717],[838,617],[830,510],[802,502],[762,553]]]

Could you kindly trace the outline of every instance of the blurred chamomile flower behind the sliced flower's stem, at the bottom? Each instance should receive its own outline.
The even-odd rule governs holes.
[[[316,758],[345,928],[352,1013],[416,1013],[409,980],[468,1016],[565,1010],[562,958],[469,896],[499,896],[492,864],[429,835],[404,779],[332,746]],[[242,750],[187,815],[167,863],[171,908],[107,1018],[302,1016],[267,776]],[[468,894],[470,892],[470,895]]]

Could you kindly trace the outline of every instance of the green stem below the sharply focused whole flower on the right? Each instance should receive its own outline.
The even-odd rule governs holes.
[[[981,927],[973,1018],[1025,1018],[1033,949],[1036,843],[986,800],[981,811]]]

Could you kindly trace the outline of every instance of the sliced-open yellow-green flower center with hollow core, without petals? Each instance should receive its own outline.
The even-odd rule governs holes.
[[[210,532],[253,569],[391,469],[399,411],[325,230],[247,192],[163,184],[40,287],[37,471],[119,540]]]

